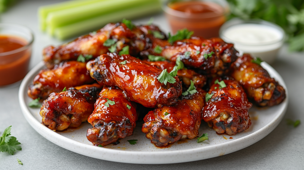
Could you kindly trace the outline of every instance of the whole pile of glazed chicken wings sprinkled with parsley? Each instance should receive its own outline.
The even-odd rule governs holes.
[[[48,69],[36,75],[28,95],[43,102],[42,123],[51,130],[88,121],[87,138],[96,146],[133,135],[139,117],[157,147],[198,137],[201,121],[235,135],[251,125],[251,102],[264,107],[285,99],[259,63],[238,55],[233,44],[186,29],[168,37],[155,25],[110,23],[45,48]]]

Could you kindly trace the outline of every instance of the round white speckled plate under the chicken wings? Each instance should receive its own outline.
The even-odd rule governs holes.
[[[265,62],[262,63],[262,66],[285,88],[287,95],[286,85],[278,72]],[[92,127],[88,122],[83,123],[76,129],[54,132],[41,124],[40,109],[33,109],[27,106],[32,100],[27,96],[28,85],[32,83],[34,76],[43,68],[45,68],[43,62],[40,62],[26,75],[20,85],[19,103],[29,124],[44,138],[62,148],[92,158],[114,162],[168,164],[197,161],[229,154],[254,144],[274,130],[281,122],[288,104],[287,95],[285,101],[280,105],[269,108],[251,108],[251,127],[245,132],[233,136],[217,135],[213,129],[203,122],[199,135],[207,132],[209,134],[208,141],[197,143],[196,139],[182,140],[168,148],[156,148],[141,132],[143,124],[141,121],[137,122],[132,136],[120,140],[118,145],[110,144],[102,148],[93,146],[87,140],[86,132],[88,128]],[[230,139],[230,137],[233,139]],[[130,145],[127,142],[130,139],[138,139],[137,144]]]

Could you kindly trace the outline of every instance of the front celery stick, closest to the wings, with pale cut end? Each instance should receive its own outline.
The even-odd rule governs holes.
[[[144,15],[159,12],[160,10],[160,4],[146,3],[142,6],[136,6],[134,8],[126,8],[124,10],[114,11],[106,15],[56,28],[55,36],[58,39],[64,40],[66,38],[71,38],[76,35],[81,35],[83,33],[96,30],[109,22],[119,22],[123,18],[131,19],[143,17]]]

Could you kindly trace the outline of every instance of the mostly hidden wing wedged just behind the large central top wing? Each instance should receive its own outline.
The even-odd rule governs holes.
[[[173,67],[175,66],[175,62],[167,62],[167,61],[158,61],[158,62],[150,62],[148,60],[143,60],[143,62],[153,65],[156,68],[159,68],[161,70],[167,69],[168,72],[171,72],[173,70]],[[180,69],[177,72],[178,77],[183,82],[183,85],[185,87],[189,87],[191,82],[193,81],[195,87],[202,88],[204,85],[206,85],[207,77],[205,75],[201,75],[196,73],[195,71],[191,69]]]

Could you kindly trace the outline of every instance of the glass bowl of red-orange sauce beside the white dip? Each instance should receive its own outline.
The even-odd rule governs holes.
[[[225,0],[169,0],[162,7],[174,34],[187,28],[203,38],[218,37],[229,14]]]

